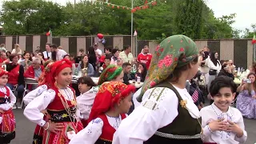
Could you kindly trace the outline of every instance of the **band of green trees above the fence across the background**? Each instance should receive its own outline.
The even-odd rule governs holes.
[[[190,38],[238,38],[233,30],[235,14],[215,18],[202,0],[157,0],[157,6],[134,13],[134,30],[138,39],[161,41],[173,34]],[[102,0],[103,2],[103,0]],[[134,0],[134,7],[145,0]],[[152,0],[148,0],[152,2]],[[118,6],[131,6],[130,0],[111,0]],[[54,36],[91,34],[130,34],[131,13],[122,7],[99,2],[81,1],[59,6],[43,0],[13,0],[2,4],[0,22],[6,35],[46,34],[51,28]]]

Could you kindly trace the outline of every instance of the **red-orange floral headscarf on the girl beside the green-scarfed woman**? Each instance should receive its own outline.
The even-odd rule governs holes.
[[[104,82],[95,97],[88,122],[97,118],[98,115],[106,113],[107,110],[118,104],[120,99],[126,98],[134,91],[135,87],[132,85],[127,86],[122,82]]]

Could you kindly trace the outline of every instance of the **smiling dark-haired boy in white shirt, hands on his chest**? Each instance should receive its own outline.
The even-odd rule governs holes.
[[[245,143],[247,133],[242,114],[230,104],[234,101],[236,86],[233,79],[220,76],[210,84],[214,103],[202,108],[204,144]]]

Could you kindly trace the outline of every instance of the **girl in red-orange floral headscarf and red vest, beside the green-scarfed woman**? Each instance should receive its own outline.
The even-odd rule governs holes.
[[[122,82],[104,82],[90,112],[90,123],[71,139],[70,144],[112,143],[114,132],[130,110],[134,90],[134,86]]]

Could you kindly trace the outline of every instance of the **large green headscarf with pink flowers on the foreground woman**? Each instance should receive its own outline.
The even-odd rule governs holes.
[[[142,102],[142,96],[146,90],[166,80],[173,73],[175,67],[186,65],[197,55],[197,46],[192,39],[185,35],[174,35],[163,40],[154,51],[141,94],[137,98],[138,102]]]

